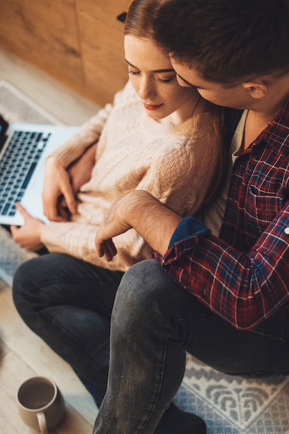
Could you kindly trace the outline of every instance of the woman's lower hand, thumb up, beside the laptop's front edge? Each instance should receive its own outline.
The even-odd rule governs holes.
[[[44,247],[41,241],[40,233],[44,226],[42,220],[30,216],[28,212],[19,203],[16,204],[21,216],[24,218],[23,226],[10,226],[13,240],[21,247],[32,252],[36,252]]]

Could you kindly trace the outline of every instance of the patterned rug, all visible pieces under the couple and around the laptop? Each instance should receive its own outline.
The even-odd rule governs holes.
[[[9,98],[21,101],[8,104]],[[11,120],[57,123],[9,83],[0,83],[0,113],[1,105]],[[18,107],[18,113],[13,107]],[[0,279],[11,284],[16,268],[34,255],[19,248],[0,227]],[[221,374],[188,356],[175,403],[202,417],[208,434],[289,434],[289,377],[242,379]]]

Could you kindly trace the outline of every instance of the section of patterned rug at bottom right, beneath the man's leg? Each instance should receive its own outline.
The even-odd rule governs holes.
[[[289,378],[241,379],[188,356],[176,403],[197,413],[208,434],[289,434]]]

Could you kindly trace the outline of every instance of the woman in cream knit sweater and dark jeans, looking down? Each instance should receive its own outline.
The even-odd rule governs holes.
[[[194,214],[214,196],[222,175],[220,116],[193,87],[177,84],[168,54],[152,37],[154,8],[155,1],[135,0],[125,21],[130,82],[113,105],[47,160],[44,209],[58,221],[44,225],[20,209],[26,225],[12,227],[19,244],[32,234],[30,245],[44,243],[57,252],[17,270],[15,305],[28,327],[71,364],[98,406],[106,390],[110,315],[119,281],[133,263],[150,256],[149,246],[130,230],[116,240],[113,261],[98,257],[94,238],[105,210],[126,192],[143,189],[183,216]],[[75,212],[67,168],[93,144],[95,164],[76,195]],[[72,212],[68,221],[58,206],[62,195]],[[171,407],[164,417],[175,419],[179,411]],[[190,427],[195,420],[199,424],[189,415]]]

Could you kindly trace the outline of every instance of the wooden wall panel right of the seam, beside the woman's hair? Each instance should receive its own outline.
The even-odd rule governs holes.
[[[85,80],[103,104],[128,81],[123,23],[116,16],[128,10],[131,0],[75,1]]]

